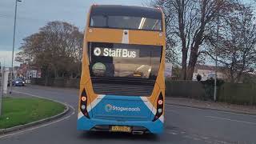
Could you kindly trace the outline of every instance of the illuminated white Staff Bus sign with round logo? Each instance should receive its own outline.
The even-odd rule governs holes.
[[[113,57],[113,58],[137,58],[138,50],[128,50],[128,49],[118,49],[118,48],[102,48],[95,47],[94,55],[103,57]]]

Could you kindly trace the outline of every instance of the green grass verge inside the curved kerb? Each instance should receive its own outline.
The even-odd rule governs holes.
[[[3,98],[0,129],[24,125],[50,118],[65,110],[65,106],[41,98]]]

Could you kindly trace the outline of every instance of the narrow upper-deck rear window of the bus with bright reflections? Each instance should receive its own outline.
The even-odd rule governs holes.
[[[126,30],[162,31],[161,19],[131,16],[94,15],[90,18],[90,26]]]

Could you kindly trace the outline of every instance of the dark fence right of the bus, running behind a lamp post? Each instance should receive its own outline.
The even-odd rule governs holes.
[[[218,84],[218,102],[242,105],[256,105],[256,84]],[[212,100],[214,83],[191,81],[166,82],[166,95],[171,97]]]

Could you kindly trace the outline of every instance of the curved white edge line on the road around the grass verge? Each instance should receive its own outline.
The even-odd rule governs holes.
[[[20,94],[30,95],[31,97],[47,99],[47,100],[50,100],[50,101],[53,101],[53,102],[59,102],[59,101],[56,101],[56,100],[51,99],[51,98],[43,98],[43,97],[40,97],[40,96],[34,95],[34,94],[22,93],[22,92],[15,91],[15,90],[14,90],[14,92],[20,93]],[[59,103],[62,103],[63,105],[66,105],[66,106],[70,106],[69,104],[66,104],[66,103],[64,103],[64,102],[59,102]],[[6,137],[15,136],[15,135],[25,134],[26,132],[29,132],[29,131],[32,131],[32,130],[37,130],[37,129],[41,128],[41,127],[50,126],[50,125],[52,125],[52,124],[54,124],[54,123],[57,123],[57,122],[62,122],[63,120],[66,120],[66,119],[70,118],[72,115],[75,114],[75,112],[74,112],[74,111],[75,111],[74,107],[73,107],[73,106],[70,106],[70,108],[73,110],[73,113],[70,114],[70,115],[68,115],[68,116],[66,116],[66,117],[64,117],[64,118],[58,119],[58,120],[56,120],[56,121],[54,121],[54,122],[46,123],[46,124],[41,125],[41,126],[34,126],[34,127],[30,128],[30,129],[27,129],[27,130],[20,130],[20,131],[18,131],[18,132],[12,133],[12,134],[5,134],[5,135],[0,136],[0,138],[6,138]]]

